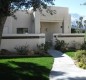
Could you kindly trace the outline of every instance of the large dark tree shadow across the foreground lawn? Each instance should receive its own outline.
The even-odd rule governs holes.
[[[0,63],[0,80],[48,80],[45,75],[48,75],[50,70],[44,66],[29,62],[8,63]],[[11,64],[16,66],[12,67]]]

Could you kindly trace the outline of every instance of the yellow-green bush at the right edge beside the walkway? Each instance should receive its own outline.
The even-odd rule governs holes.
[[[75,53],[75,59],[79,67],[86,69],[86,50],[79,50]]]

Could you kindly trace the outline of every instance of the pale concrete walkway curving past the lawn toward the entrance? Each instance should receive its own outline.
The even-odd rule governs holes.
[[[54,57],[50,80],[86,80],[86,70],[76,67],[73,60],[66,54],[56,50],[48,52]]]

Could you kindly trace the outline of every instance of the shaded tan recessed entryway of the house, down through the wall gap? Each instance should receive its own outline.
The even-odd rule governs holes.
[[[41,33],[45,33],[47,41],[51,41],[53,39],[54,33],[62,33],[62,23],[60,22],[41,22],[40,26]]]

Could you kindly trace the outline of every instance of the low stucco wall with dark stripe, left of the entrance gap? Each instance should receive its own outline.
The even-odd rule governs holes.
[[[45,34],[4,34],[1,49],[15,51],[16,46],[29,45],[29,49],[36,49],[37,44],[45,43]]]

